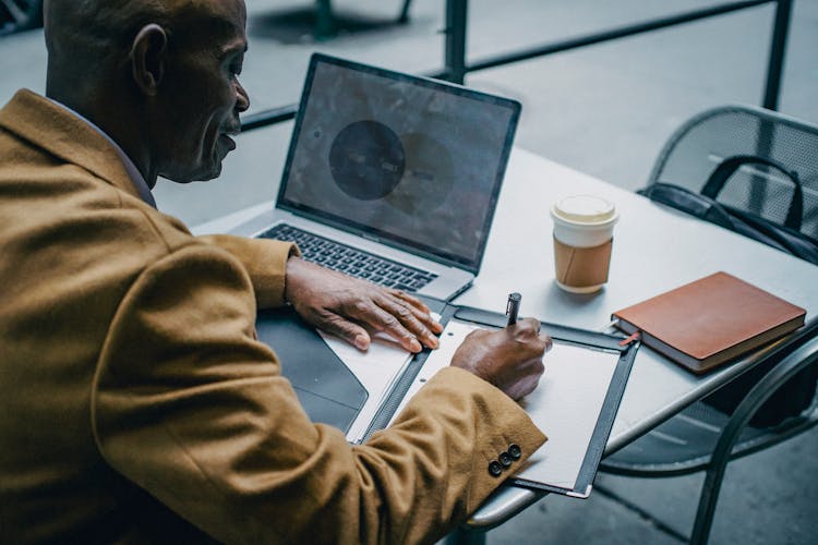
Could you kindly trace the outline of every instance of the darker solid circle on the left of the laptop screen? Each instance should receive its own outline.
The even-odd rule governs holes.
[[[329,171],[347,195],[361,201],[392,193],[406,168],[406,153],[397,134],[377,121],[345,126],[329,148]]]

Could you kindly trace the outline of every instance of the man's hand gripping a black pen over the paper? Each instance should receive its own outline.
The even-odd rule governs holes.
[[[496,331],[478,329],[455,351],[452,365],[488,380],[512,399],[531,393],[545,367],[542,356],[551,337],[540,335],[540,323],[526,318]]]

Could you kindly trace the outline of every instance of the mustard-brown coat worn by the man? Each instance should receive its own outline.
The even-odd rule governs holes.
[[[365,445],[311,423],[254,329],[292,251],[191,235],[34,93],[0,110],[3,541],[430,543],[542,444],[453,367]]]

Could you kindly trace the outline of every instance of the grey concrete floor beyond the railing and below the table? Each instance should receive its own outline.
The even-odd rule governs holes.
[[[298,100],[312,51],[404,70],[443,65],[444,2],[414,0],[408,25],[387,23],[402,2],[337,0],[357,32],[316,43],[301,15],[308,0],[250,0],[251,50],[242,75],[251,111]],[[472,60],[719,2],[677,0],[474,0]],[[643,185],[662,143],[683,120],[727,102],[760,104],[772,7],[474,73],[467,84],[520,100],[516,144],[622,187]],[[0,102],[20,87],[45,88],[43,34],[0,38]],[[780,108],[818,123],[818,0],[796,0]],[[159,207],[196,225],[272,199],[291,123],[249,132],[220,180],[160,182]],[[711,534],[713,544],[818,543],[818,431],[731,464]],[[588,500],[548,496],[489,534],[489,543],[676,543],[687,534],[700,475],[658,481],[599,475],[638,510],[594,492]],[[646,517],[646,513],[648,514]]]

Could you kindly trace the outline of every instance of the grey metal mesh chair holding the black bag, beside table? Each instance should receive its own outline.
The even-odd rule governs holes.
[[[818,239],[818,126],[773,111],[727,106],[694,117],[671,136],[662,149],[648,186],[670,182],[700,192],[711,171],[723,159],[741,155],[771,158],[797,172],[803,187],[799,229],[805,235]],[[793,191],[792,184],[784,182],[777,172],[765,167],[744,166],[724,186],[719,202],[784,225]],[[664,477],[706,470],[690,536],[691,543],[706,543],[726,463],[779,444],[818,423],[816,360],[818,324],[813,324],[794,334],[791,342],[771,350],[758,364],[754,371],[763,371],[763,374],[755,379],[755,385],[746,386],[749,391],[739,391],[743,398],[732,415],[730,411],[714,409],[713,404],[718,403],[712,403],[712,400],[694,403],[602,460],[600,471]],[[733,386],[729,384],[724,389]],[[766,409],[771,407],[771,398],[781,398],[782,390],[793,387],[807,392],[806,407],[797,407],[793,414],[784,413],[779,422],[769,425],[750,422],[754,415],[765,413],[759,413],[762,405]],[[713,396],[718,397],[723,390]]]

